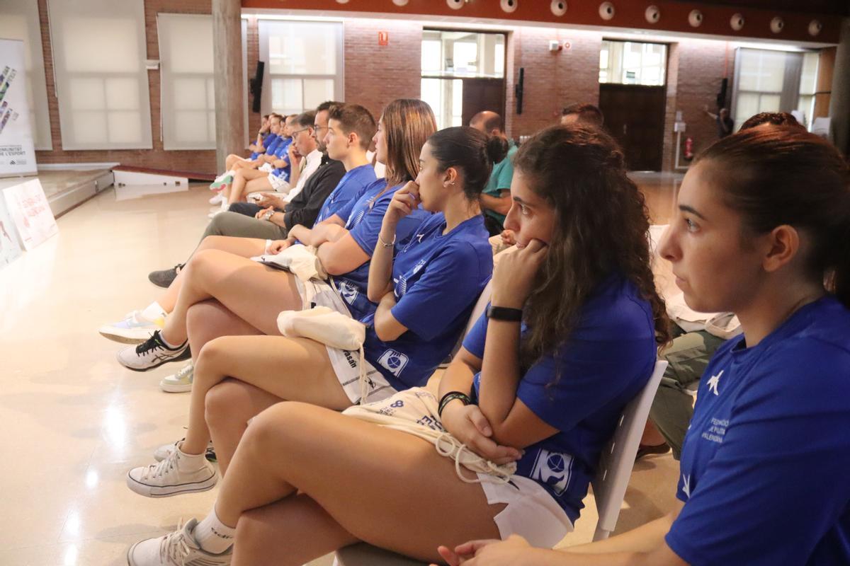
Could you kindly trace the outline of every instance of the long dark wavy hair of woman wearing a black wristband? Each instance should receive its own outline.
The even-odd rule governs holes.
[[[524,307],[528,367],[570,336],[581,307],[605,277],[620,273],[649,301],[656,342],[670,339],[664,300],[650,267],[649,213],[626,176],[614,138],[576,124],[549,127],[523,143],[514,168],[555,211],[555,227],[535,289]]]

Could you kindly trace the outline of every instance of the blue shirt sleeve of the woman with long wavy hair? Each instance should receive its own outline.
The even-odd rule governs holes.
[[[519,382],[517,397],[554,428],[574,429],[633,386],[634,375],[624,373],[624,367],[635,367],[649,378],[655,341],[643,311],[640,318],[645,336],[611,322],[605,336],[600,332],[605,322],[583,322],[554,355],[543,356],[529,368]],[[634,322],[639,323],[637,316]]]

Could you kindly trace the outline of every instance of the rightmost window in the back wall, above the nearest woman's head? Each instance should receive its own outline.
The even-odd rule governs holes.
[[[818,53],[739,48],[732,96],[735,129],[759,112],[802,110],[811,120]]]

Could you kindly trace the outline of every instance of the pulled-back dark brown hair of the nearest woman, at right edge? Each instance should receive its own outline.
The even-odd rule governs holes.
[[[787,224],[805,231],[810,276],[850,308],[850,169],[835,147],[801,127],[773,126],[724,137],[694,163],[700,161],[734,171],[715,177],[746,230],[763,234]]]

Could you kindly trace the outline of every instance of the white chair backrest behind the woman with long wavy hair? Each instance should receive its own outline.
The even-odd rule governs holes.
[[[593,479],[593,496],[599,513],[594,541],[607,539],[617,525],[620,507],[626,496],[626,487],[632,476],[635,457],[638,455],[643,428],[649,417],[649,407],[655,399],[655,391],[667,368],[666,361],[656,361],[655,370],[641,392],[623,410],[617,423],[614,437],[599,457],[596,478]]]

